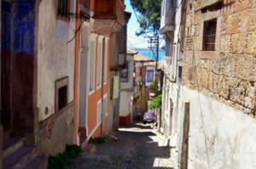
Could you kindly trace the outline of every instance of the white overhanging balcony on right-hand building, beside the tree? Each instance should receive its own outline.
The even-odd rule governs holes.
[[[174,31],[175,26],[175,1],[163,0],[160,22],[160,33]]]

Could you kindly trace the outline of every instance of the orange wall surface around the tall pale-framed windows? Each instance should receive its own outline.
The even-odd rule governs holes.
[[[103,85],[103,93],[102,93],[102,87],[100,88],[96,88],[96,75],[97,75],[97,69],[96,69],[96,63],[97,63],[97,47],[98,46],[98,37],[96,37],[96,62],[95,62],[95,82],[94,82],[94,93],[91,93],[90,96],[89,96],[89,99],[88,99],[88,121],[87,121],[87,124],[88,124],[88,133],[89,134],[92,134],[92,137],[95,138],[95,137],[98,137],[98,136],[101,136],[101,126],[102,125],[99,125],[99,127],[97,127],[96,131],[94,133],[91,133],[93,132],[93,130],[95,129],[96,127],[96,120],[97,120],[97,103],[99,100],[101,100],[103,98],[103,96],[105,94],[108,93],[108,88],[109,88],[109,40],[108,40],[108,54],[107,54],[107,61],[108,61],[108,64],[107,64],[107,83],[105,85]],[[102,55],[102,57],[104,57]],[[106,61],[106,60],[105,60]],[[104,64],[104,63],[102,63]],[[103,71],[103,69],[102,69]],[[107,109],[108,111],[108,97],[107,97]],[[108,113],[106,113],[106,121],[105,121],[105,127],[104,127],[104,132],[108,131],[108,128],[106,125],[108,123]]]

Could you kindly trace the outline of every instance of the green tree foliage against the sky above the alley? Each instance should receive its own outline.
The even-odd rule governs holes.
[[[131,6],[139,13],[140,30],[137,36],[146,33],[157,35],[160,29],[161,0],[131,0]]]

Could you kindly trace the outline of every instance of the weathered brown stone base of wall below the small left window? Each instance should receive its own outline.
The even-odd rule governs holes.
[[[59,114],[38,124],[35,142],[44,155],[56,155],[73,144],[73,103]]]

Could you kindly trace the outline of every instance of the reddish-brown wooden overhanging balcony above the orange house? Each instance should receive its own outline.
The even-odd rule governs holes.
[[[90,8],[94,12],[91,30],[94,33],[109,36],[125,25],[124,0],[90,1]]]

